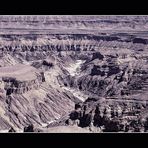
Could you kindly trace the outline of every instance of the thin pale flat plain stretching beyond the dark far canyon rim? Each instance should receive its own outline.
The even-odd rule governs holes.
[[[0,35],[25,35],[25,34],[31,34],[31,35],[53,35],[53,34],[93,34],[93,35],[99,35],[100,33],[107,33],[107,34],[113,34],[113,33],[127,33],[131,35],[144,35],[147,36],[147,29],[116,29],[116,28],[91,28],[91,27],[85,27],[85,28],[0,28]]]

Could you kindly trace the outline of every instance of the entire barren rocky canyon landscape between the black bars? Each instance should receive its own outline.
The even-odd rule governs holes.
[[[0,16],[0,131],[147,132],[147,28],[148,16]]]

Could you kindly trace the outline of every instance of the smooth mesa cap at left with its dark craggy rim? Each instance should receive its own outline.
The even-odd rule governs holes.
[[[6,95],[22,94],[38,89],[45,81],[44,73],[29,65],[15,65],[0,68],[0,79]],[[1,85],[2,85],[1,84]]]

